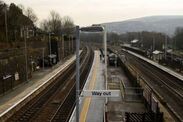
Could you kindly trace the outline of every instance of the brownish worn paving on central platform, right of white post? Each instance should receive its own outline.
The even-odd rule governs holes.
[[[126,87],[132,87],[129,79],[125,75],[124,71],[114,66],[108,67],[108,76],[109,76],[109,89],[121,90],[123,96],[123,90],[120,87],[120,82],[125,84]],[[135,91],[131,91],[135,94]],[[134,96],[129,96],[130,101],[126,101],[126,98],[109,98],[107,103],[107,120],[108,122],[123,122],[125,117],[125,112],[145,112],[146,108],[142,102],[136,102]]]

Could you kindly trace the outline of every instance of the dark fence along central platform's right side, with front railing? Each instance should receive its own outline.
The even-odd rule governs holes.
[[[124,57],[122,57],[124,58]],[[131,119],[137,118],[137,121],[139,119],[141,121],[149,121],[149,122],[162,122],[163,121],[163,113],[160,112],[159,108],[159,103],[158,100],[156,99],[156,94],[154,94],[153,89],[151,89],[150,85],[146,81],[145,78],[139,74],[134,67],[130,66],[128,62],[124,62],[124,59],[120,59],[120,65],[124,69],[125,73],[127,76],[130,78],[130,80],[133,82],[133,85],[136,86],[136,88],[141,88],[141,89],[132,89],[136,90],[137,96],[140,95],[143,97],[145,105],[150,113],[126,113],[126,119],[130,122],[133,121]],[[123,62],[122,62],[123,61]],[[124,84],[123,84],[124,86]],[[124,90],[124,97],[129,96],[129,94],[126,94],[128,88],[123,87]],[[135,94],[132,94],[135,95]],[[149,120],[146,120],[150,118]]]

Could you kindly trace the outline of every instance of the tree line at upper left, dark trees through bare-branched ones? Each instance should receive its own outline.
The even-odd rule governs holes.
[[[38,24],[38,17],[30,7],[11,3],[7,5],[0,0],[0,42],[21,41],[23,28],[54,33],[55,35],[70,34],[74,26],[71,17],[61,17],[56,11],[51,11],[47,19]],[[38,26],[39,25],[39,26]]]

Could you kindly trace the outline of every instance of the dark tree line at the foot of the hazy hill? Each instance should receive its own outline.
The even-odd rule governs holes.
[[[108,41],[111,43],[131,43],[134,39],[139,40],[139,47],[145,50],[152,48],[164,50],[166,42],[167,48],[183,50],[183,28],[181,27],[176,28],[172,37],[165,33],[147,31],[127,32],[124,34],[108,33]]]

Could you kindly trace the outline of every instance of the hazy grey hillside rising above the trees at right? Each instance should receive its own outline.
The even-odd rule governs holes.
[[[121,22],[103,23],[107,31],[125,33],[156,31],[173,35],[177,27],[183,27],[183,16],[151,16]]]

